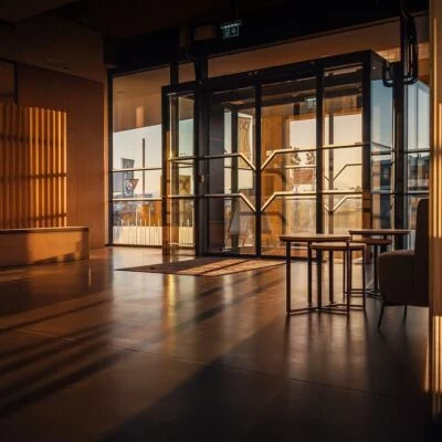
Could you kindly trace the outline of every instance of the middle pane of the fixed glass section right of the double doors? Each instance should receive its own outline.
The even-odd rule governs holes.
[[[362,148],[324,149],[324,189],[362,190]]]

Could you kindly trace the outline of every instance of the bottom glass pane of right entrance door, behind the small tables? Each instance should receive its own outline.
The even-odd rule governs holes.
[[[316,197],[277,197],[261,214],[261,248],[265,255],[284,255],[283,234],[316,232]],[[294,256],[306,256],[305,248],[293,250]]]

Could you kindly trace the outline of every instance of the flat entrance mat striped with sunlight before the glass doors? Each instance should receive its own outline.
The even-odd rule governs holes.
[[[170,273],[175,275],[223,276],[231,273],[262,270],[282,264],[284,264],[284,261],[241,257],[197,257],[194,260],[118,270],[127,272]]]

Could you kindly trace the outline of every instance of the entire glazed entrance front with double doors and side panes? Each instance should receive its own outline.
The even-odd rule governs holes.
[[[281,256],[283,234],[371,224],[370,64],[355,59],[166,95],[166,253]]]

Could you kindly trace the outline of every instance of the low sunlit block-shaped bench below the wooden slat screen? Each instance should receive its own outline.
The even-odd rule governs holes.
[[[85,227],[0,229],[0,267],[90,257]]]

